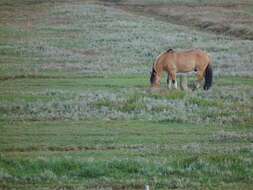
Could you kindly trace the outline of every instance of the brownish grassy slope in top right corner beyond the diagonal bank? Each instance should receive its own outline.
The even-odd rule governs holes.
[[[108,1],[104,1],[107,2]],[[253,2],[250,0],[119,0],[122,9],[144,13],[200,30],[253,40]]]

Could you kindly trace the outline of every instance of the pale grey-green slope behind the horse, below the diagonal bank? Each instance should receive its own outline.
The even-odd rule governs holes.
[[[15,2],[1,6],[2,77],[148,77],[155,57],[171,47],[208,51],[216,74],[252,74],[252,41],[231,40],[85,2]]]

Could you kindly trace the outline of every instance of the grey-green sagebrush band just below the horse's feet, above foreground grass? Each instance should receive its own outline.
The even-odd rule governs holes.
[[[209,92],[150,92],[141,88],[75,93],[47,91],[49,96],[32,102],[1,104],[2,118],[8,120],[45,119],[141,119],[195,124],[243,124],[250,120],[253,91],[213,87]]]

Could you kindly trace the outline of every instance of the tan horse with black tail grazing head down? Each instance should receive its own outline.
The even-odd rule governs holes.
[[[204,90],[212,86],[213,70],[210,56],[199,49],[175,52],[172,49],[161,53],[153,64],[150,83],[152,87],[159,87],[163,71],[168,73],[168,87],[171,88],[171,80],[177,88],[176,73],[197,73],[197,88],[205,77]],[[171,78],[171,80],[170,80]]]

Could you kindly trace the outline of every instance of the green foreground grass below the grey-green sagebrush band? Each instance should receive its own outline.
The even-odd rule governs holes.
[[[103,184],[138,189],[150,184],[157,189],[184,189],[252,184],[252,139],[220,141],[216,136],[221,129],[213,126],[145,121],[4,122],[1,126],[2,187]],[[232,131],[252,134],[251,128],[227,127],[223,136]]]

